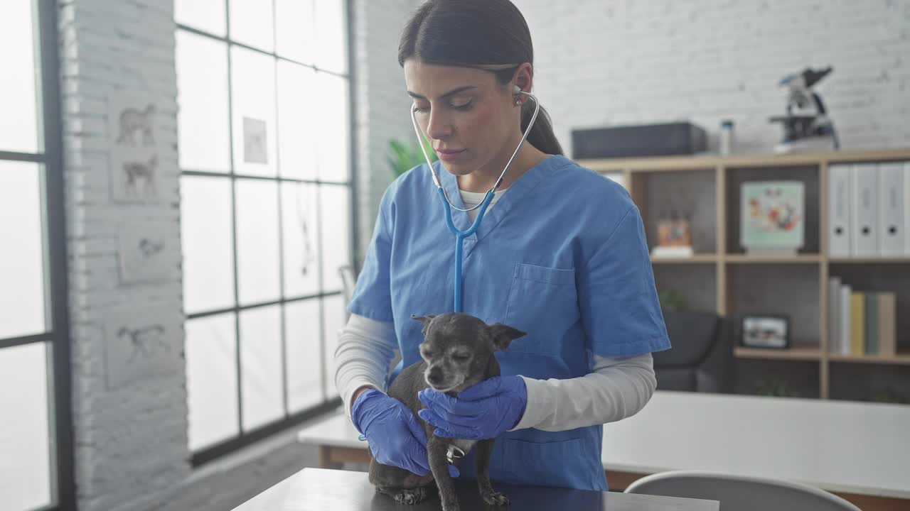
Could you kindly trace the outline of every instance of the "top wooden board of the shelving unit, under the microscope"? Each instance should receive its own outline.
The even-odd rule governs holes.
[[[724,168],[756,168],[764,166],[821,165],[860,161],[910,159],[910,149],[869,149],[791,155],[691,155],[656,156],[646,158],[591,158],[577,160],[579,165],[598,172],[665,172],[682,170],[711,170]]]

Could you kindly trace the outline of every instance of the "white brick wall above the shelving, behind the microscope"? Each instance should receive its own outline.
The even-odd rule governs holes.
[[[535,90],[563,148],[571,129],[692,120],[712,149],[781,136],[784,75],[833,65],[817,90],[843,148],[910,145],[910,1],[514,0],[535,50]]]

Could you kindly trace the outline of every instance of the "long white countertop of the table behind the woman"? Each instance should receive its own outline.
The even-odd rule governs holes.
[[[301,443],[366,448],[339,412]],[[657,391],[603,427],[607,470],[710,470],[910,499],[910,406]]]

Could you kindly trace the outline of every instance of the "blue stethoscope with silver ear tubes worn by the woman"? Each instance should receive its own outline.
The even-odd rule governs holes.
[[[518,145],[515,147],[515,151],[512,152],[512,155],[509,158],[509,161],[506,163],[506,166],[502,168],[502,172],[499,179],[496,180],[496,184],[493,185],[489,191],[487,191],[486,195],[483,196],[483,200],[480,201],[479,205],[475,205],[474,207],[470,207],[468,209],[461,209],[459,206],[452,204],[449,198],[449,194],[447,194],[445,188],[442,187],[440,176],[436,174],[436,168],[433,166],[433,162],[430,161],[430,155],[427,154],[427,147],[423,143],[423,134],[420,132],[420,127],[417,125],[417,109],[413,106],[410,109],[410,122],[412,125],[414,125],[414,133],[417,135],[417,140],[420,143],[420,150],[423,152],[423,157],[427,160],[427,165],[430,165],[430,172],[433,175],[433,183],[436,184],[436,191],[440,195],[440,199],[442,200],[442,207],[445,210],[446,225],[449,225],[449,230],[453,235],[455,235],[455,312],[461,312],[461,253],[462,246],[464,245],[464,238],[474,234],[477,231],[478,226],[480,226],[480,222],[483,220],[483,215],[487,212],[487,207],[490,205],[490,202],[492,202],[493,196],[496,195],[496,189],[499,188],[502,184],[502,177],[506,175],[506,171],[509,170],[509,165],[511,165],[512,160],[515,159],[515,155],[518,155],[518,151],[521,149],[521,145],[524,144],[525,139],[528,138],[528,134],[531,133],[531,127],[533,127],[534,121],[537,120],[537,113],[541,110],[541,104],[537,100],[537,96],[532,95],[530,92],[524,92],[518,85],[515,85],[513,92],[515,94],[526,95],[534,100],[534,114],[531,115],[531,122],[528,123],[528,127],[525,128],[524,133],[521,135],[521,141],[519,141]],[[459,211],[465,212],[473,211],[474,209],[480,207],[480,211],[478,212],[477,218],[474,219],[474,222],[470,225],[470,227],[464,231],[461,231],[458,229],[458,227],[455,226],[455,224],[452,223],[453,207]]]

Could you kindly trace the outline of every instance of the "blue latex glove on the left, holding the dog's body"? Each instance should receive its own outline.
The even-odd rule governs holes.
[[[410,409],[375,388],[364,391],[351,406],[354,427],[367,438],[369,450],[382,465],[398,466],[418,476],[430,473],[427,436]],[[449,466],[452,477],[458,468]]]

